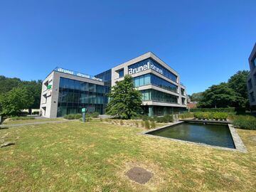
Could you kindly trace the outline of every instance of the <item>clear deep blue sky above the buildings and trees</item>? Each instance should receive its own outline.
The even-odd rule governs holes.
[[[0,1],[0,75],[96,75],[152,51],[188,94],[249,70],[256,1]]]

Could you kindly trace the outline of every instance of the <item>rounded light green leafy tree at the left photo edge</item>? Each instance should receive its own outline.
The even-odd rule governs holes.
[[[21,110],[27,109],[33,102],[34,99],[30,97],[26,87],[15,87],[11,91],[0,95],[1,114],[18,115]]]

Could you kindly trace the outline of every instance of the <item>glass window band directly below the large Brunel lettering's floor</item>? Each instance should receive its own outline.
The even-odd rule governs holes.
[[[143,85],[155,85],[157,87],[164,88],[166,90],[170,90],[172,92],[177,92],[178,86],[163,80],[162,78],[157,77],[154,74],[148,73],[146,75],[141,75],[136,78],[133,78],[134,87],[140,87]]]

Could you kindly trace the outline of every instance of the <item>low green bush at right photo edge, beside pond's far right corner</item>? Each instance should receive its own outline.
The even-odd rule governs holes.
[[[250,115],[235,115],[232,118],[232,123],[240,129],[256,130],[256,118]]]

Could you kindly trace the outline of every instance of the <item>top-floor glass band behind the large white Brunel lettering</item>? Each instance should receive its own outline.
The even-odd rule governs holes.
[[[164,75],[166,78],[169,78],[169,79],[173,80],[174,82],[177,82],[177,76],[174,75],[174,73],[171,73],[171,71],[167,70],[166,68],[164,68],[162,65],[160,65],[159,63],[157,63],[155,60],[153,60],[151,58],[142,60],[133,65],[129,65],[128,70],[133,69],[134,73],[138,73],[138,72],[144,70],[144,68],[142,68],[142,66],[148,65],[148,64],[150,65],[150,68],[151,68],[151,64],[156,67],[154,69],[152,68],[153,70],[159,69],[162,72],[161,74]],[[148,69],[148,68],[146,68],[146,69]],[[158,70],[156,70],[156,71],[158,71]]]

